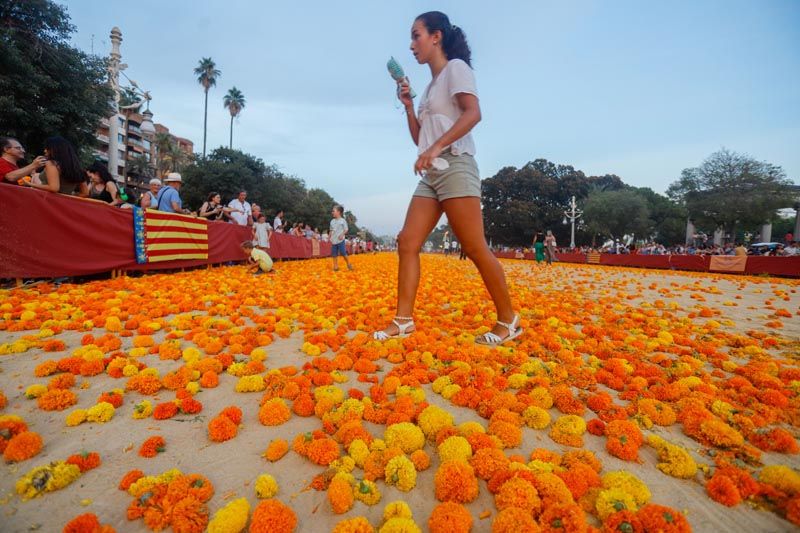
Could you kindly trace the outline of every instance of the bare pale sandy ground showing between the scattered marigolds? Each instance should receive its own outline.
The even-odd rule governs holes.
[[[369,258],[354,258],[357,272],[353,275],[354,286],[360,283],[359,276],[373,276],[366,268],[359,267],[369,261]],[[448,268],[456,268],[467,276],[476,276],[477,272],[467,262],[457,262],[456,259],[428,258],[425,265],[442,265],[443,261],[451,261]],[[394,263],[387,263],[393,267]],[[450,264],[450,263],[448,263]],[[535,284],[541,294],[560,293],[581,287],[584,297],[602,301],[604,296],[616,294],[624,290],[628,295],[628,305],[640,306],[643,302],[651,303],[655,299],[662,299],[667,304],[675,302],[678,305],[676,313],[685,315],[691,312],[698,301],[692,295],[702,296],[705,301],[702,305],[720,309],[722,316],[717,320],[728,319],[728,325],[723,327],[730,331],[744,332],[749,329],[765,329],[765,323],[770,320],[770,310],[766,309],[765,302],[775,298],[775,291],[785,291],[789,301],[778,300],[780,307],[793,312],[800,308],[800,295],[796,292],[798,284],[791,280],[775,280],[765,278],[712,276],[706,274],[685,274],[678,272],[645,271],[614,269],[599,266],[573,266],[556,265],[550,269],[540,267],[531,262],[506,261],[504,262],[510,280],[512,293],[516,293],[520,286]],[[282,263],[278,265],[279,276],[293,269],[302,269],[316,280],[324,280],[327,276],[329,263],[327,261],[309,261]],[[231,269],[233,271],[233,269]],[[176,274],[176,276],[204,276],[206,271]],[[383,275],[391,278],[393,270],[387,269]],[[613,285],[613,286],[612,286]],[[679,289],[678,286],[689,287]],[[426,294],[440,290],[435,280],[423,278],[420,298]],[[661,292],[659,292],[661,290]],[[0,293],[0,303],[4,294]],[[727,302],[727,304],[726,304]],[[735,305],[731,305],[735,304]],[[535,307],[536,302],[524,302],[523,305]],[[784,328],[779,332],[783,337],[800,341],[800,318],[796,315],[791,319],[784,319]],[[0,332],[0,344],[13,341],[30,332],[8,333]],[[95,329],[94,334],[99,336],[105,333],[102,329]],[[77,332],[64,332],[58,336],[66,342],[68,351],[80,344]],[[156,341],[163,339],[164,332],[159,332],[154,337]],[[131,347],[131,338],[123,339],[124,348]],[[308,358],[300,352],[302,332],[295,332],[288,339],[277,339],[268,348],[269,357],[266,361],[268,367],[277,368],[285,365],[301,365]],[[186,344],[184,344],[186,345]],[[795,347],[800,345],[795,345]],[[34,400],[27,400],[23,394],[25,387],[33,383],[46,383],[46,378],[34,377],[34,367],[44,360],[60,358],[68,352],[58,354],[29,351],[18,355],[0,356],[0,389],[9,399],[9,405],[0,414],[18,414],[22,416],[33,431],[40,433],[44,439],[45,447],[41,454],[21,464],[0,466],[0,531],[60,531],[63,525],[72,517],[84,513],[97,514],[101,522],[111,524],[117,531],[144,530],[142,521],[129,522],[125,518],[130,497],[116,486],[121,477],[130,469],[140,468],[146,474],[158,474],[169,468],[177,467],[184,473],[198,472],[206,475],[214,483],[216,492],[209,507],[213,513],[224,503],[234,497],[245,496],[252,506],[258,500],[254,494],[254,482],[261,473],[272,474],[280,486],[278,498],[289,504],[297,513],[299,531],[330,531],[343,516],[334,515],[326,501],[324,492],[304,490],[312,477],[321,471],[307,460],[294,452],[289,452],[282,460],[275,464],[267,462],[261,457],[267,444],[274,438],[281,437],[289,442],[295,435],[319,427],[319,420],[315,417],[301,418],[293,416],[289,422],[282,426],[264,427],[258,422],[258,405],[261,393],[240,394],[234,392],[237,378],[224,374],[220,376],[220,386],[215,389],[203,390],[197,396],[203,405],[203,411],[196,416],[177,416],[171,420],[156,421],[151,419],[133,421],[131,413],[134,404],[143,399],[138,393],[127,393],[122,407],[117,409],[116,415],[107,424],[82,424],[78,427],[66,427],[64,412],[45,412],[37,408]],[[330,355],[330,352],[328,352]],[[173,361],[160,361],[157,356],[147,356],[144,361],[149,365],[159,368],[163,373],[177,367]],[[389,365],[383,362],[384,365]],[[366,386],[355,380],[356,375],[349,373],[351,380],[343,387],[359,387],[366,390]],[[92,378],[78,378],[78,387],[73,390],[79,396],[79,403],[75,407],[88,408],[95,403],[96,398],[104,391],[124,387],[124,380],[114,380],[102,374]],[[438,404],[453,413],[456,422],[477,420],[484,426],[486,421],[469,409],[458,408],[434,394],[430,386],[424,387],[427,401]],[[174,397],[171,391],[162,391],[156,400],[168,401]],[[152,400],[152,398],[150,398]],[[157,403],[154,402],[154,404]],[[243,424],[239,435],[226,443],[211,443],[206,436],[208,421],[220,409],[227,405],[238,405],[244,412]],[[553,419],[559,415],[556,409],[551,409]],[[587,420],[592,413],[587,411]],[[383,427],[366,423],[365,426],[375,436],[382,436]],[[699,445],[685,437],[680,426],[660,428],[660,434],[672,440],[687,445],[690,450],[698,451]],[[154,459],[142,459],[137,455],[139,445],[149,436],[162,435],[167,441],[167,450]],[[559,452],[568,448],[554,443],[548,436],[547,430],[536,431],[529,428],[523,429],[524,441],[520,448],[507,450],[508,453],[529,454],[533,448],[544,447]],[[653,493],[653,502],[669,505],[683,510],[695,531],[743,531],[743,532],[778,532],[795,530],[788,522],[775,514],[767,511],[739,505],[729,509],[709,499],[699,482],[677,480],[662,474],[655,468],[656,457],[652,449],[643,447],[640,451],[642,463],[635,464],[617,460],[604,451],[604,439],[585,435],[586,448],[595,451],[602,457],[604,471],[624,469],[631,471],[644,480]],[[14,494],[14,483],[30,468],[49,461],[66,459],[70,454],[83,450],[97,451],[100,453],[103,464],[101,467],[84,474],[68,488],[44,495],[28,502],[22,502]],[[435,456],[435,450],[430,445],[426,450]],[[708,462],[695,454],[695,457]],[[764,462],[767,464],[787,464],[800,468],[797,456],[783,456],[765,454]],[[383,499],[380,504],[367,507],[357,502],[355,507],[345,517],[358,515],[366,516],[373,525],[380,523],[383,507],[395,499],[403,499],[409,503],[414,511],[414,518],[423,530],[427,530],[427,518],[434,505],[437,503],[433,497],[433,476],[438,459],[434,458],[430,469],[422,472],[417,481],[417,488],[409,493],[402,493],[393,487],[388,487],[382,482],[380,488]],[[81,502],[88,500],[88,505]],[[84,501],[84,503],[87,503]],[[492,495],[481,482],[480,496],[469,504],[468,509],[475,518],[474,531],[489,531],[491,518],[496,513]],[[478,515],[483,511],[492,513],[489,519],[480,520]]]

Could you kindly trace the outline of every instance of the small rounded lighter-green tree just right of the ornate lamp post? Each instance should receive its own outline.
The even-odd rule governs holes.
[[[593,235],[621,238],[648,237],[652,222],[647,200],[632,188],[592,191],[583,204],[583,220]]]

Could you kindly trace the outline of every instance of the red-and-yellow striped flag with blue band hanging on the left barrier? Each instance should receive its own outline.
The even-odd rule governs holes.
[[[202,218],[134,208],[137,263],[208,259],[208,222]]]

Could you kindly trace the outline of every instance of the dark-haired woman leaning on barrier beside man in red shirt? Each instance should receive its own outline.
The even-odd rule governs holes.
[[[23,185],[43,191],[77,194],[84,198],[89,195],[86,174],[81,168],[78,153],[68,140],[58,136],[50,137],[44,143],[44,156],[47,158],[44,164],[45,181],[25,181]]]

